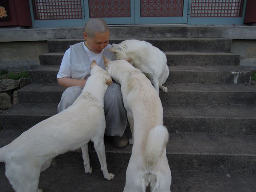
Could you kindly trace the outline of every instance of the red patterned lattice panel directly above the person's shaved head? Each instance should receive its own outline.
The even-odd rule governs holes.
[[[130,17],[130,0],[89,0],[90,17]]]

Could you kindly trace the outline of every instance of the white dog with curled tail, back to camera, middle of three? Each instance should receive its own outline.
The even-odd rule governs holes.
[[[140,70],[125,60],[104,58],[106,70],[121,85],[124,107],[132,131],[132,155],[124,192],[170,192],[171,171],[166,157],[168,131],[162,125],[160,98]]]

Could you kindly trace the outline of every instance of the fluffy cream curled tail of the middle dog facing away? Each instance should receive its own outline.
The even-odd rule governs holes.
[[[150,130],[146,141],[144,160],[147,170],[152,170],[168,142],[169,134],[165,126],[156,126]]]

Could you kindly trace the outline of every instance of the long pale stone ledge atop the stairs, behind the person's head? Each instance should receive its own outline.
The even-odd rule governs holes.
[[[83,38],[84,27],[0,29],[0,42],[46,41],[49,39]],[[213,38],[256,39],[256,26],[110,26],[110,38],[141,37],[142,31],[148,38],[178,38],[184,34],[189,38],[210,34]],[[149,37],[150,36],[150,37]]]

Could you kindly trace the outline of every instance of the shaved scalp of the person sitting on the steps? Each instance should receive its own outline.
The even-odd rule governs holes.
[[[96,32],[105,33],[106,31],[108,31],[108,24],[102,18],[90,18],[84,28],[88,37],[94,37]]]

